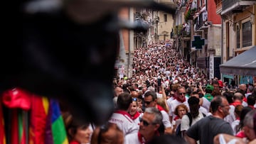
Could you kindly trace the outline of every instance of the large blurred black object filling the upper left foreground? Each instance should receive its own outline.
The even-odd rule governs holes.
[[[113,111],[112,77],[124,6],[174,13],[149,0],[4,1],[0,89],[57,97],[82,121],[102,124]],[[114,9],[113,9],[114,8]]]

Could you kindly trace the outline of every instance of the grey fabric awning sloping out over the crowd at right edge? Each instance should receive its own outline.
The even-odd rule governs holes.
[[[220,73],[256,76],[256,45],[220,65]]]

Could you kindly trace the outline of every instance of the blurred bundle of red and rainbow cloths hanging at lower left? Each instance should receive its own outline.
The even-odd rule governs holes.
[[[4,92],[2,98],[11,111],[11,133],[6,134],[11,144],[68,144],[57,100],[17,88]],[[0,105],[0,144],[6,144],[1,110]]]

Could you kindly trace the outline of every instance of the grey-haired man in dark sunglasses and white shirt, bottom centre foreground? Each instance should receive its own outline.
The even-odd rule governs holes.
[[[145,109],[140,119],[139,132],[131,133],[124,137],[124,144],[144,144],[152,138],[159,136],[159,127],[161,126],[163,116],[155,107]]]

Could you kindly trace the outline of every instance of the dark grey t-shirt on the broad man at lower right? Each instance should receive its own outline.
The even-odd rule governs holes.
[[[188,128],[186,134],[201,144],[213,144],[213,138],[219,133],[233,135],[230,124],[223,119],[207,116]]]

